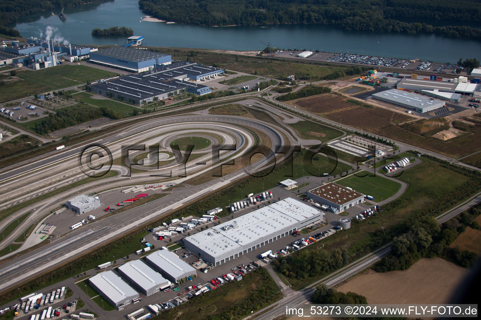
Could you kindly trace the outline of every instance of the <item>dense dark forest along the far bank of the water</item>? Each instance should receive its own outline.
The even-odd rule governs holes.
[[[479,1],[459,0],[139,0],[140,9],[156,18],[184,24],[330,24],[345,30],[433,33],[481,39],[470,26],[433,26],[398,19],[415,18],[481,22]]]

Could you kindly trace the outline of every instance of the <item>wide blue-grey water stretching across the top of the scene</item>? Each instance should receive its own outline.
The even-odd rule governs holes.
[[[430,59],[456,62],[459,58],[481,60],[481,43],[475,40],[449,38],[431,34],[409,35],[347,31],[327,25],[276,25],[205,27],[187,24],[165,24],[140,20],[145,16],[137,0],[115,0],[66,8],[65,22],[51,12],[24,17],[11,27],[24,37],[45,35],[52,26],[54,35],[80,45],[124,45],[126,37],[91,36],[93,28],[126,26],[136,36],[144,36],[147,46],[189,47],[224,50],[262,50],[269,41],[273,47],[306,48],[327,52],[347,52],[401,59]],[[55,12],[58,14],[59,12]]]

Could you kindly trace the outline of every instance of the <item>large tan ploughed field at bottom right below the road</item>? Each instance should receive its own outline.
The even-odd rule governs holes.
[[[337,289],[366,296],[368,303],[443,304],[449,302],[468,273],[468,269],[441,258],[421,259],[405,271],[368,271]]]

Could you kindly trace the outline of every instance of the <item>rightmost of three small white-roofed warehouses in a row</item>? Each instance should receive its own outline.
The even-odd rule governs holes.
[[[145,257],[147,263],[173,283],[195,275],[196,270],[168,249],[155,251]]]

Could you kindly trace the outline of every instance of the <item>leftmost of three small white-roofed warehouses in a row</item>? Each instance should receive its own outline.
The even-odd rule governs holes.
[[[89,278],[89,283],[115,308],[121,308],[139,297],[139,293],[113,271],[96,274]]]

